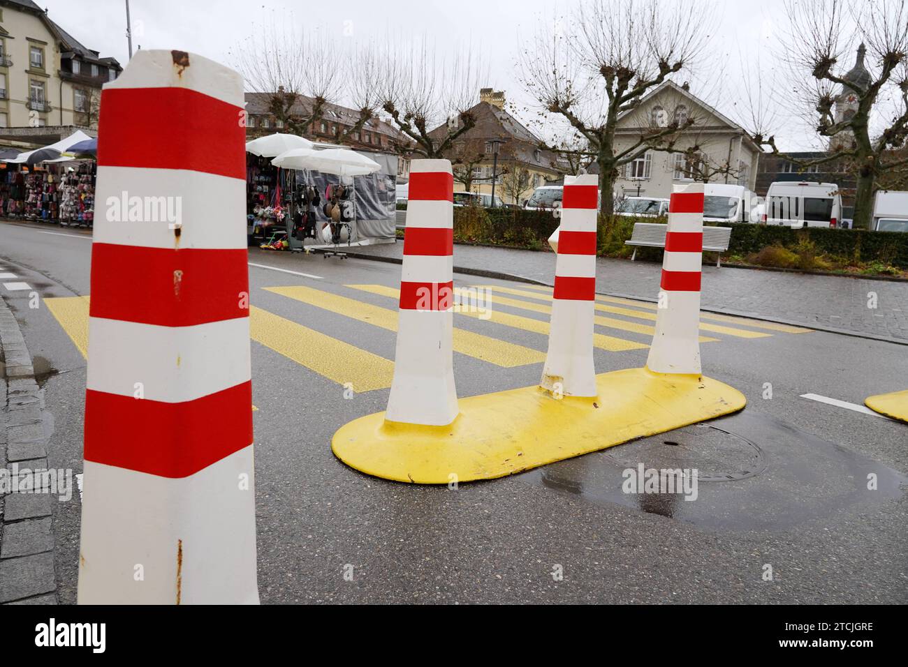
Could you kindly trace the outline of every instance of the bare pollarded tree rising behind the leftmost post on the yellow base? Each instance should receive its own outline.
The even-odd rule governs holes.
[[[469,109],[483,78],[478,52],[468,47],[439,54],[423,39],[390,46],[381,57],[380,108],[411,142],[392,147],[426,158],[442,157],[476,124]],[[432,132],[439,126],[445,131]]]

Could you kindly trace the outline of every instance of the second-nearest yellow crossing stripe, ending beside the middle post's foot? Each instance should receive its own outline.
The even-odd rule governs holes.
[[[310,287],[269,287],[267,291],[296,299],[316,308],[330,310],[338,315],[371,324],[381,329],[397,331],[397,309],[381,308],[370,303],[349,299],[321,289]],[[488,361],[503,368],[514,368],[538,364],[546,360],[546,353],[526,348],[505,340],[483,336],[466,329],[454,329],[453,348],[455,352]]]

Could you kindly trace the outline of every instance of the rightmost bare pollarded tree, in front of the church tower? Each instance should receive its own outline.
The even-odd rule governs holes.
[[[829,150],[799,160],[779,150],[769,128],[755,125],[755,142],[802,169],[838,162],[854,170],[854,227],[869,228],[873,194],[908,166],[898,149],[908,139],[908,7],[905,0],[787,0],[790,35],[783,54],[798,102],[812,111]],[[866,76],[847,76],[854,48]],[[863,63],[862,63],[863,61]],[[836,114],[836,104],[849,104]],[[878,128],[874,132],[873,124]]]

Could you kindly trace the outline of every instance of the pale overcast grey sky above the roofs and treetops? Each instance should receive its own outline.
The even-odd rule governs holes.
[[[102,55],[128,60],[123,0],[39,0],[49,15],[77,39]],[[528,99],[521,91],[516,61],[534,25],[558,12],[570,12],[574,2],[555,5],[545,0],[345,0],[342,3],[289,2],[287,0],[131,0],[133,48],[179,48],[229,64],[228,50],[252,34],[253,23],[273,18],[318,25],[339,39],[377,39],[390,32],[427,35],[441,48],[479,44],[489,58],[489,85],[504,89],[508,100],[521,105]],[[779,51],[780,22],[784,28],[783,0],[761,3],[719,0],[720,29],[709,63],[692,77],[692,90],[706,91],[707,101],[725,115],[749,124],[741,63],[754,66],[757,57],[764,71]],[[350,23],[347,23],[350,22]],[[344,28],[352,28],[344,36]],[[347,30],[350,33],[350,30]],[[855,44],[856,45],[856,44]],[[759,55],[758,55],[759,54]],[[851,62],[848,63],[848,67]],[[717,81],[721,73],[721,80]],[[778,106],[778,105],[776,105]],[[785,150],[818,147],[804,123],[779,109],[775,131]],[[520,115],[525,115],[521,113]],[[528,115],[528,114],[527,114]]]

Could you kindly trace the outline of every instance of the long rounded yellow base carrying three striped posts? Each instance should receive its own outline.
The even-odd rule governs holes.
[[[459,400],[447,427],[385,421],[379,412],[341,427],[334,455],[376,477],[416,484],[493,479],[720,417],[745,407],[710,378],[629,368],[597,376],[596,398],[556,399],[540,387]]]

